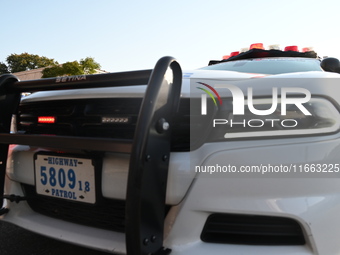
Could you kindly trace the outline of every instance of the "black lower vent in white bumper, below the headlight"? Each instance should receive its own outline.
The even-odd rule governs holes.
[[[304,245],[305,238],[293,219],[238,214],[212,214],[201,239],[208,243],[248,245]]]

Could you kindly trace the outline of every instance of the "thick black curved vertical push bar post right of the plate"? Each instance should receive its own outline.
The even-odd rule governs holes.
[[[182,71],[171,57],[153,70],[137,123],[126,199],[127,253],[169,254],[163,248],[172,116],[178,109]]]

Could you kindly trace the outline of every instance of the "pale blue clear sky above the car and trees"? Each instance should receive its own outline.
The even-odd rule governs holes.
[[[103,70],[153,68],[173,56],[206,66],[252,43],[313,47],[340,58],[339,0],[0,0],[0,62],[16,53]]]

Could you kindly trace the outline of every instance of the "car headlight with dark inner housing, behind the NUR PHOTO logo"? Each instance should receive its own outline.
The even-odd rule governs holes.
[[[294,104],[287,105],[286,115],[283,115],[280,110],[280,99],[273,113],[262,116],[255,115],[246,107],[247,100],[244,104],[244,114],[234,115],[232,103],[228,100],[223,101],[223,106],[213,114],[210,123],[207,124],[207,119],[204,120],[205,125],[202,125],[204,130],[191,129],[192,141],[200,140],[202,144],[226,139],[323,135],[336,132],[340,128],[338,110],[324,98],[311,98],[308,103],[303,104],[311,115],[305,115]],[[272,100],[254,99],[252,104],[257,110],[267,110],[271,108]],[[195,126],[197,127],[197,123]]]

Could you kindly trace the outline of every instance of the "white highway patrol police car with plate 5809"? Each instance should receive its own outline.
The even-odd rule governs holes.
[[[48,83],[52,91],[23,98],[13,110],[15,133],[0,135],[0,143],[17,144],[1,219],[114,254],[338,254],[338,70],[314,52],[254,48],[184,72],[178,112],[151,121],[151,152],[133,163],[143,169],[140,182],[130,182],[129,144],[143,140],[145,86],[125,82],[124,73],[113,82],[124,86],[107,88],[95,85],[109,83],[107,74],[67,86],[6,81],[12,90]],[[166,72],[165,83],[177,74]],[[168,143],[153,140],[169,128]],[[159,152],[167,146],[170,158]],[[165,190],[162,202],[156,191]]]

